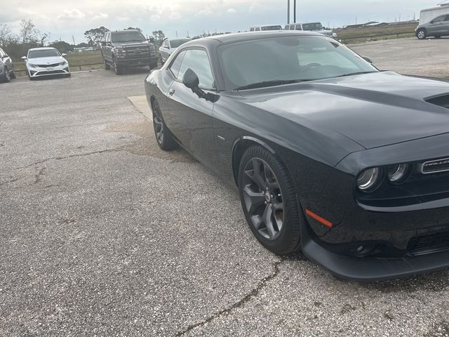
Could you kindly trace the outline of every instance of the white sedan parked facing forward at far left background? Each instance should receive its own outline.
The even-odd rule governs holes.
[[[31,48],[22,60],[25,60],[30,80],[51,75],[70,77],[69,62],[64,56],[66,54],[60,53],[56,48]]]

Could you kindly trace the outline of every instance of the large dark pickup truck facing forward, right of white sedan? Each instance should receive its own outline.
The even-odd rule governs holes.
[[[117,75],[123,74],[123,67],[157,67],[156,47],[145,39],[138,30],[126,29],[108,32],[102,42],[101,54],[105,69],[111,66]]]

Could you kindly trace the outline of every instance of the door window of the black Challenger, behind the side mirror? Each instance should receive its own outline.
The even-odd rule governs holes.
[[[201,88],[214,88],[212,70],[210,70],[210,62],[206,51],[200,49],[189,49],[185,54],[184,60],[177,79],[182,81],[182,77],[187,69],[192,69],[199,78],[199,86]]]

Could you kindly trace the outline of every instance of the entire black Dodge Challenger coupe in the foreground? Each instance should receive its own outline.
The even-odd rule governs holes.
[[[182,45],[145,80],[162,150],[236,185],[274,253],[356,280],[449,266],[449,83],[313,32]]]

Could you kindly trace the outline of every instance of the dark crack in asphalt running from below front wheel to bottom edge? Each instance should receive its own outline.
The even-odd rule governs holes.
[[[175,334],[175,337],[180,337],[185,335],[185,333],[188,333],[189,331],[192,331],[200,326],[203,326],[207,323],[210,323],[213,321],[213,319],[220,317],[222,315],[227,315],[229,314],[229,312],[232,312],[234,309],[236,308],[240,308],[242,307],[245,303],[247,303],[249,300],[251,300],[251,298],[255,297],[258,295],[258,293],[265,287],[267,286],[267,283],[270,282],[272,279],[274,279],[276,276],[279,275],[279,272],[281,272],[281,270],[279,269],[279,266],[284,262],[284,260],[286,260],[285,258],[281,257],[281,260],[276,261],[275,263],[273,263],[273,267],[274,267],[274,272],[272,272],[272,274],[268,275],[267,277],[264,277],[258,284],[257,286],[252,289],[249,293],[246,294],[246,296],[244,296],[243,298],[241,298],[241,300],[237,301],[236,303],[234,303],[233,305],[231,305],[229,308],[225,308],[223,310],[220,310],[219,312],[215,312],[214,314],[212,314],[210,317],[204,319],[201,322],[198,322],[196,324],[191,324],[189,326],[187,326],[186,329],[182,330],[182,331],[178,331]]]

